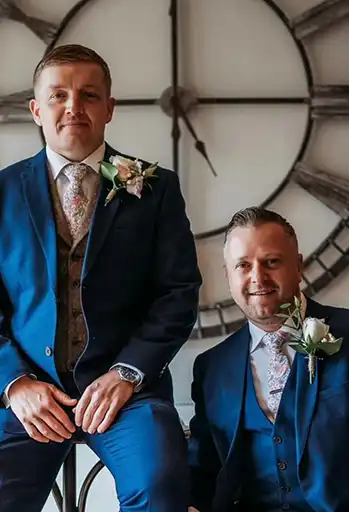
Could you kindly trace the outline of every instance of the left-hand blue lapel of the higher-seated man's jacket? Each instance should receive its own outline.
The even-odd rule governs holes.
[[[21,174],[23,193],[43,252],[53,289],[57,278],[56,228],[48,184],[46,151],[43,149]]]

